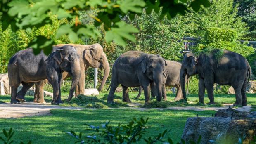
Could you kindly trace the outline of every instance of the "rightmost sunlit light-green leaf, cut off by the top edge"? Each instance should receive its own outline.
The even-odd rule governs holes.
[[[124,13],[135,12],[135,13],[142,13],[142,8],[145,7],[145,2],[143,0],[122,0],[118,1],[120,5],[121,11]]]

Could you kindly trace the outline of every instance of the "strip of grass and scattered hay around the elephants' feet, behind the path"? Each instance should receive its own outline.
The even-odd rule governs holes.
[[[73,98],[71,102],[66,102],[64,99],[67,98],[68,93],[62,93],[62,100],[64,101],[63,106],[83,106],[88,108],[107,108],[107,107],[129,107],[128,103],[122,102],[122,93],[115,93],[114,102],[115,104],[107,104],[107,96],[108,92],[100,92],[100,95],[95,96],[78,96],[77,99]],[[129,97],[130,100],[134,103],[145,103],[144,94],[142,93],[139,99],[135,99],[137,96],[137,92],[130,92]],[[197,94],[190,94],[187,96],[188,103],[184,101],[175,102],[173,99],[175,94],[171,94],[171,92],[167,92],[167,99],[166,102],[156,102],[155,98],[151,98],[151,103],[149,105],[143,105],[140,107],[146,108],[165,108],[168,106],[202,106],[201,104],[197,104],[199,102]],[[32,96],[25,97],[27,102],[33,102]],[[223,106],[223,104],[234,104],[235,103],[235,94],[215,94],[214,100],[216,104],[214,105],[207,105],[206,103],[209,102],[209,98],[207,94],[205,95],[203,107],[213,107],[213,106]],[[50,97],[45,97],[46,102],[51,102]],[[0,96],[0,102],[10,102],[10,96]],[[247,94],[247,105],[256,105],[256,94]]]

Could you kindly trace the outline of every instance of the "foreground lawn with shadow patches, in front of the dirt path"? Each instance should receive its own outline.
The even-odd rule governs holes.
[[[174,111],[174,110],[147,110],[138,111],[134,109],[86,109],[81,111],[52,110],[50,116],[33,116],[17,119],[0,119],[0,129],[14,130],[14,144],[20,140],[33,144],[72,144],[73,137],[66,134],[70,130],[84,132],[88,128],[85,123],[101,126],[106,121],[111,120],[111,125],[118,123],[127,124],[133,117],[149,117],[145,137],[156,136],[165,129],[171,129],[167,137],[171,137],[174,142],[178,142],[183,133],[187,118],[199,116],[211,116],[214,111]],[[89,134],[88,132],[86,134]],[[3,134],[0,133],[0,136]],[[84,135],[85,136],[85,135]],[[142,140],[137,142],[144,144]],[[161,144],[161,143],[159,143]]]

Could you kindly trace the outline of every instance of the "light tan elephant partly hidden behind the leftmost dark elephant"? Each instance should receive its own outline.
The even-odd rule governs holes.
[[[77,97],[78,94],[84,94],[85,71],[89,67],[104,69],[103,79],[98,89],[99,91],[101,91],[104,88],[104,85],[107,81],[107,78],[110,72],[109,62],[107,60],[106,54],[103,52],[102,46],[96,43],[93,45],[59,44],[59,45],[55,45],[55,47],[62,47],[64,45],[71,45],[75,47],[77,54],[79,56],[81,77],[78,82],[78,85],[76,86],[75,96]],[[62,80],[65,80],[66,78],[69,78],[69,77],[70,77],[69,73],[67,72],[62,73]],[[38,86],[39,87],[36,87],[36,92],[38,92],[39,94],[35,93],[34,101],[36,101],[36,99],[42,99],[41,97],[43,97],[43,84]]]

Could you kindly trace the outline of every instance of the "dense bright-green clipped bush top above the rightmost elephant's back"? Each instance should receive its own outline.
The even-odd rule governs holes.
[[[231,29],[208,28],[205,33],[206,43],[233,42],[237,39],[237,33]]]

